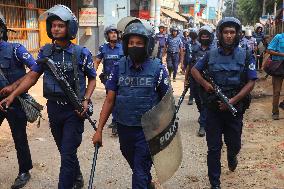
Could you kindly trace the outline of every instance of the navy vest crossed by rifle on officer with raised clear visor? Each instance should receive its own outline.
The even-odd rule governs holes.
[[[75,82],[75,74],[74,74],[74,64],[77,64],[77,70],[78,70],[78,79],[79,79],[79,94],[78,97],[82,99],[86,92],[86,77],[84,75],[84,72],[79,69],[79,62],[81,53],[82,53],[83,47],[74,45],[72,47],[72,54],[66,51],[56,52],[53,50],[52,44],[47,44],[42,48],[42,53],[44,57],[51,58],[54,63],[56,64],[56,67],[59,69],[59,71],[62,71],[64,75],[66,76],[67,81],[73,88],[73,90],[76,92],[76,82]],[[49,100],[54,101],[67,101],[66,95],[64,94],[63,90],[61,89],[60,85],[56,81],[56,79],[52,76],[52,73],[48,70],[44,70],[43,75],[43,96]]]

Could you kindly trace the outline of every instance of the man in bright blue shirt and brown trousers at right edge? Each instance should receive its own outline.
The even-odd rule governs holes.
[[[284,33],[277,34],[268,45],[268,53],[272,55],[273,61],[282,61],[278,70],[282,70],[283,75],[272,76],[273,85],[273,101],[272,101],[272,119],[279,119],[278,103],[280,99],[280,93],[282,83],[284,79]],[[279,104],[279,107],[284,109],[284,100]]]

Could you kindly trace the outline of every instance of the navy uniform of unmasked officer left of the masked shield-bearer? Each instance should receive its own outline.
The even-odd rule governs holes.
[[[64,72],[74,91],[76,91],[76,85],[74,83],[73,64],[77,64],[80,83],[78,91],[79,98],[82,99],[86,90],[86,76],[88,78],[96,77],[91,52],[87,48],[72,43],[66,49],[54,49],[56,48],[51,44],[44,46],[41,48],[38,58],[51,58]],[[74,56],[76,56],[76,59],[73,58]],[[78,117],[61,87],[48,70],[37,64],[32,67],[32,70],[37,73],[44,73],[43,93],[44,97],[47,98],[50,128],[61,155],[58,188],[70,189],[73,187],[76,177],[80,174],[77,148],[82,142],[84,119]]]

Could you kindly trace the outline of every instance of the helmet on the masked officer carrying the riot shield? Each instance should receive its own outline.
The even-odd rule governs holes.
[[[128,41],[129,37],[134,36],[140,36],[145,40],[145,52],[146,57],[150,57],[153,49],[154,49],[154,38],[153,38],[153,31],[150,31],[145,27],[145,25],[142,22],[134,22],[129,24],[122,35],[122,47],[124,55],[128,55]],[[152,39],[153,38],[153,39]]]

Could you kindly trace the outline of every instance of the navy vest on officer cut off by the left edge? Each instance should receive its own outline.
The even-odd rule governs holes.
[[[6,46],[2,46],[0,49],[0,67],[9,83],[0,75],[0,88],[14,83],[26,74],[24,64],[19,65],[15,59],[13,59],[14,49],[19,47],[20,44],[6,44]]]

